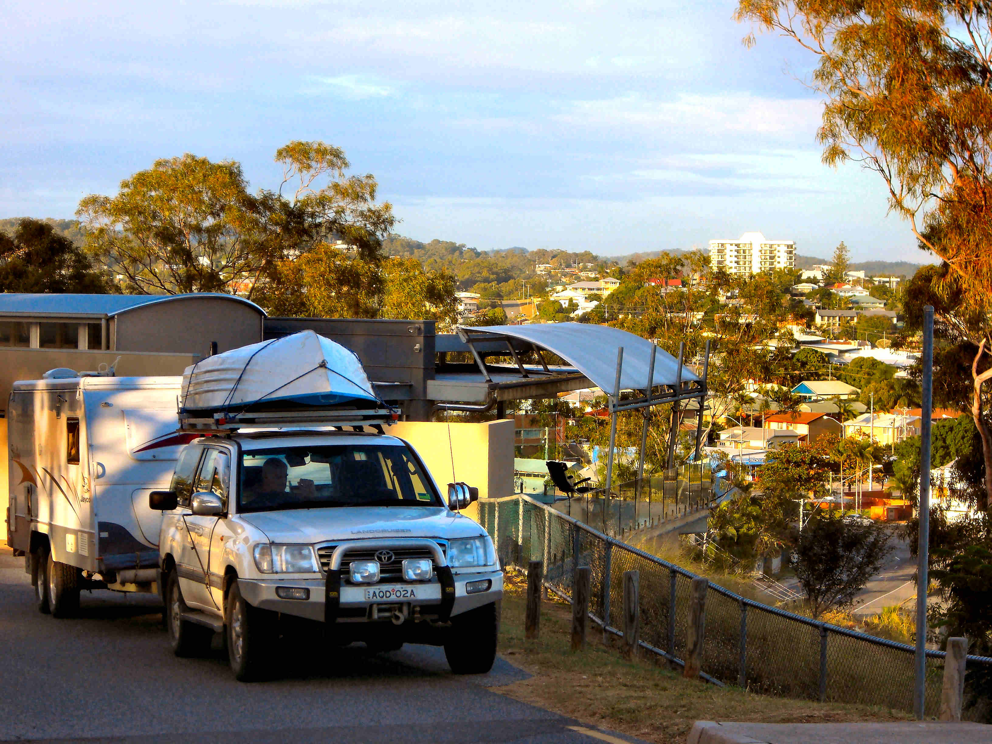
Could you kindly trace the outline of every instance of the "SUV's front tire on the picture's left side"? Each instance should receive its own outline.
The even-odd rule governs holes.
[[[231,581],[224,601],[227,625],[227,660],[238,682],[258,682],[269,677],[275,651],[277,615],[252,607],[241,596],[238,581]]]

